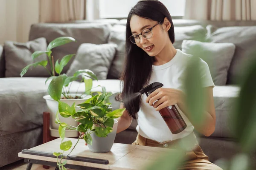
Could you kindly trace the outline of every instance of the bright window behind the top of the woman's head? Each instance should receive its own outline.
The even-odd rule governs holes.
[[[172,17],[182,17],[186,0],[160,0],[168,8]],[[126,18],[138,0],[99,0],[100,18]]]

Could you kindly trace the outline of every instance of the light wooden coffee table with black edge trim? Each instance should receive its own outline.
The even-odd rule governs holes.
[[[77,141],[77,139],[73,138],[64,139],[64,141],[67,140],[71,140],[73,145]],[[31,169],[32,164],[56,167],[56,157],[52,153],[61,152],[59,148],[60,143],[61,139],[58,138],[29,150],[23,150],[18,156],[25,158],[25,162],[28,163],[27,170]],[[70,150],[65,151],[64,154],[67,155]],[[33,153],[34,151],[36,152]],[[70,158],[63,159],[61,162],[67,160],[65,167],[76,170],[142,170],[145,165],[154,162],[158,155],[166,152],[167,149],[165,148],[114,143],[111,151],[108,153],[93,153],[84,145],[84,140],[80,139],[76,148],[70,154]],[[77,158],[87,158],[87,160],[78,161]],[[91,158],[93,160],[90,160]],[[94,159],[99,159],[96,161],[100,163],[93,163]],[[56,169],[58,168],[56,167]]]

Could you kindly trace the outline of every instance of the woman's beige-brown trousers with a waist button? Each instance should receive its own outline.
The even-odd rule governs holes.
[[[194,135],[194,133],[191,135]],[[186,136],[185,138],[188,138],[189,136]],[[179,139],[172,142],[158,143],[138,134],[136,141],[134,141],[132,144],[151,147],[168,146],[168,148],[172,148],[172,145],[178,142],[178,140]],[[204,154],[203,150],[198,144],[195,145],[192,151],[186,152],[186,157],[187,159],[185,163],[178,170],[222,170],[220,167],[209,161],[208,156]]]

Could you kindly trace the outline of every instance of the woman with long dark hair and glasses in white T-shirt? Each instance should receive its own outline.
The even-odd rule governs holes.
[[[122,95],[119,96],[119,99],[123,99],[120,108],[126,108],[126,111],[118,119],[117,133],[127,129],[132,119],[138,117],[138,136],[133,144],[172,148],[181,139],[196,141],[194,127],[205,136],[210,136],[215,130],[212,95],[214,83],[209,67],[200,60],[201,79],[208,103],[204,123],[198,125],[190,122],[190,113],[186,111],[183,101],[184,68],[191,56],[175,49],[174,41],[172,18],[161,2],[141,0],[131,9],[126,24],[126,62],[121,78],[124,86]],[[161,82],[164,86],[148,97],[144,94],[133,98],[134,93],[152,82]],[[171,133],[158,112],[170,105],[177,106],[187,125],[178,134]],[[181,167],[183,170],[221,170],[209,162],[198,144],[188,150],[186,155],[189,158]]]

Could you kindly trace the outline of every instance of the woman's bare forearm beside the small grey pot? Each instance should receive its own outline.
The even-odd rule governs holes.
[[[121,103],[120,105],[120,109],[124,108],[123,103]],[[116,133],[122,132],[123,130],[127,129],[132,122],[132,117],[130,117],[128,111],[124,111],[124,113],[122,114],[122,116],[120,116],[119,118],[117,118],[118,121],[118,126],[117,126],[117,131]]]

